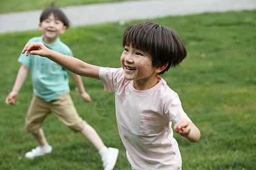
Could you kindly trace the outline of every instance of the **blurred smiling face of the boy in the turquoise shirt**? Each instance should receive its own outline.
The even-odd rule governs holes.
[[[60,20],[56,19],[53,14],[50,14],[47,19],[39,23],[40,30],[44,35],[44,42],[51,44],[57,40],[61,34],[65,32],[67,26]]]

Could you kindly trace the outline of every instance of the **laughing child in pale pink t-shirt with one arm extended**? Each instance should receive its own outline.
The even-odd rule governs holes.
[[[179,36],[170,28],[144,22],[131,25],[123,36],[122,67],[104,68],[53,52],[30,42],[22,53],[47,57],[73,73],[100,79],[115,93],[117,125],[133,169],[181,169],[174,130],[197,142],[200,130],[181,107],[179,96],[158,75],[187,56]]]

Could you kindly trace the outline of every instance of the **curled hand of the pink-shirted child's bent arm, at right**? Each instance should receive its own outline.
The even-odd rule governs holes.
[[[181,120],[174,126],[174,130],[181,136],[187,137],[191,132],[191,124],[187,119],[181,118]]]

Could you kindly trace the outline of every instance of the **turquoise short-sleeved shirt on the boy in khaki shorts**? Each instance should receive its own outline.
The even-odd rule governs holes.
[[[59,38],[52,44],[46,44],[43,41],[43,36],[34,37],[28,42],[42,42],[47,48],[55,52],[73,57],[71,49],[61,42]],[[20,54],[18,61],[30,67],[33,91],[36,96],[45,101],[52,101],[61,94],[70,91],[67,70],[57,65],[57,63],[40,56],[29,55],[26,57],[26,53]]]

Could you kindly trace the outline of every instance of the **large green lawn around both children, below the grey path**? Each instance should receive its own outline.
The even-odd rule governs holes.
[[[180,67],[162,77],[176,91],[184,111],[201,130],[201,139],[189,143],[175,134],[183,158],[183,169],[254,169],[255,164],[255,20],[256,10],[154,19],[174,28],[188,57]],[[138,21],[132,22],[137,23]],[[127,25],[117,23],[69,28],[61,36],[73,54],[98,66],[120,67],[122,34]],[[73,133],[53,115],[43,129],[53,147],[52,154],[27,160],[24,154],[36,146],[24,130],[24,118],[32,97],[28,76],[16,105],[6,105],[20,64],[24,44],[40,31],[0,34],[0,169],[102,169],[96,149],[79,133]],[[115,169],[130,169],[119,138],[114,114],[100,117],[99,99],[114,101],[99,80],[82,78],[92,97],[84,103],[75,84],[71,95],[80,116],[101,136],[107,146],[118,147]]]

